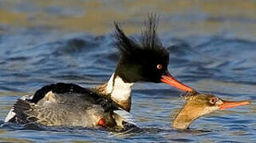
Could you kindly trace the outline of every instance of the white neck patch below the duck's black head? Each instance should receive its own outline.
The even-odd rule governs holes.
[[[118,101],[126,101],[130,98],[132,92],[133,83],[124,83],[118,75],[114,79],[115,73],[112,74],[111,78],[108,80],[108,85],[106,91],[111,95],[112,99]]]

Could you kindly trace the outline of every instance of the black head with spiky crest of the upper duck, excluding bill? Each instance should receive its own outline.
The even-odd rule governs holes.
[[[119,24],[116,26],[116,47],[121,57],[116,68],[118,75],[128,83],[150,81],[159,83],[163,70],[167,70],[169,54],[160,42],[156,29],[159,17],[149,14],[142,30],[140,41],[128,37]],[[156,70],[157,64],[163,64],[163,70]]]

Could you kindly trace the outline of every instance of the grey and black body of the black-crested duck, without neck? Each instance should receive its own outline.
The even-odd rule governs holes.
[[[31,99],[18,99],[10,122],[93,127],[104,118],[112,126],[110,114],[116,109],[118,106],[111,99],[89,89],[73,83],[55,83],[42,87]]]

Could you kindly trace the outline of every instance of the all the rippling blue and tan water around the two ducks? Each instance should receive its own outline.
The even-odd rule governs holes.
[[[252,1],[0,1],[0,142],[255,142],[255,10]],[[184,103],[181,93],[136,83],[131,113],[144,131],[3,124],[16,99],[43,85],[106,82],[118,60],[112,21],[138,37],[148,12],[161,14],[172,75],[198,91],[251,105],[216,111],[180,132],[171,121]]]

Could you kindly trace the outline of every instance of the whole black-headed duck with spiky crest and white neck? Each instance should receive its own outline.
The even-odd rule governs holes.
[[[5,122],[38,122],[46,126],[115,126],[113,110],[131,109],[133,83],[167,83],[182,91],[195,90],[173,78],[167,70],[169,53],[156,34],[157,18],[150,15],[141,40],[116,27],[120,60],[108,83],[87,89],[73,83],[41,87],[32,96],[18,99]]]

